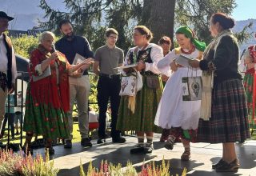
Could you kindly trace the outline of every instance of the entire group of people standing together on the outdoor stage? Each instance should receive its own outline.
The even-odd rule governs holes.
[[[0,62],[6,63],[0,64],[0,98],[6,96],[8,90],[12,91],[16,78],[14,50],[10,38],[3,33],[12,19],[0,12],[0,40],[5,41],[1,49],[6,46],[4,53],[0,50]],[[78,104],[81,145],[92,146],[88,137],[90,81],[87,69],[93,64],[94,73],[99,76],[97,143],[105,142],[107,137],[106,110],[110,99],[112,142],[126,142],[121,131],[135,130],[138,144],[130,150],[131,154],[152,153],[154,132],[162,132],[161,140],[166,141],[166,149],[172,150],[174,142],[181,140],[183,161],[190,159],[190,142],[222,143],[222,159],[212,169],[238,171],[234,142],[250,138],[246,99],[255,108],[254,96],[250,97],[254,94],[250,75],[254,74],[256,51],[254,47],[249,48],[244,59],[248,67],[245,86],[246,91],[250,91],[246,98],[238,71],[239,48],[231,31],[233,27],[233,18],[222,13],[213,14],[210,33],[214,39],[208,46],[198,41],[190,27],[182,26],[175,33],[178,47],[170,51],[170,38],[161,38],[158,46],[150,43],[153,34],[146,26],[135,26],[134,47],[125,57],[123,50],[116,46],[117,30],[107,29],[106,45],[93,54],[86,38],[74,35],[71,22],[62,20],[59,30],[63,37],[55,42],[53,33],[43,32],[38,48],[30,57],[24,146],[32,153],[33,134],[42,134],[50,154],[54,154],[54,138],[64,138],[64,147],[71,148],[74,101]],[[76,54],[86,59],[75,62]],[[178,65],[175,59],[181,54],[194,58],[190,66]],[[142,88],[134,97],[119,96],[121,74],[116,68],[120,66],[124,66],[122,74],[127,77],[140,74],[142,78]],[[198,77],[202,78],[202,99],[184,99],[183,78]],[[164,89],[162,81],[166,82]],[[0,110],[2,114],[2,104]]]

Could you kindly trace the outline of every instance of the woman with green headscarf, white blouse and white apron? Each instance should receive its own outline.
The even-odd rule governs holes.
[[[164,129],[170,129],[166,149],[172,150],[175,139],[181,138],[185,148],[181,158],[187,161],[190,159],[190,142],[194,142],[195,130],[198,128],[201,101],[182,100],[182,78],[201,76],[202,71],[180,66],[174,59],[180,54],[188,58],[201,59],[206,44],[199,42],[188,26],[178,28],[176,38],[179,47],[158,62],[158,70],[170,78],[166,82],[154,123]]]

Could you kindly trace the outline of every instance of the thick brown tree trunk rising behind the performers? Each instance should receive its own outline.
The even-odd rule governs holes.
[[[158,43],[162,36],[174,38],[174,10],[176,0],[145,0],[150,2],[150,15],[148,15],[148,27],[154,34],[153,41]],[[146,6],[144,4],[144,6]],[[147,7],[148,8],[148,7]]]

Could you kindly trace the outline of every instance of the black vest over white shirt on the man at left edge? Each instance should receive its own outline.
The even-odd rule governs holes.
[[[6,34],[2,34],[3,35],[3,40],[6,46],[6,50],[7,50],[7,59],[8,59],[8,63],[7,63],[7,87],[8,89],[11,88],[11,81],[12,81],[12,74],[11,74],[11,66],[12,66],[12,57],[13,57],[13,48],[12,48],[12,44],[11,44],[11,40],[10,38],[6,35]]]

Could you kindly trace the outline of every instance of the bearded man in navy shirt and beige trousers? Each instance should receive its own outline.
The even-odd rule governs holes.
[[[66,58],[72,64],[76,54],[82,55],[84,58],[94,58],[94,54],[90,49],[90,44],[86,38],[74,35],[73,26],[69,20],[62,20],[59,23],[59,29],[64,35],[55,43],[56,50],[66,55]],[[75,63],[74,63],[75,64]],[[88,99],[90,93],[90,80],[87,70],[78,70],[71,74],[70,80],[70,111],[68,113],[70,137],[66,138],[64,148],[72,148],[73,138],[73,117],[72,111],[74,101],[78,105],[78,126],[81,134],[81,145],[92,146],[89,133],[88,118]]]

